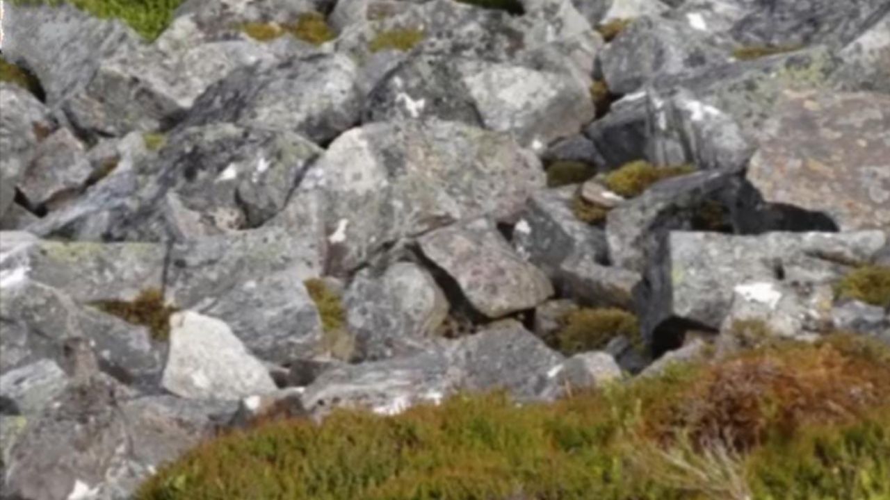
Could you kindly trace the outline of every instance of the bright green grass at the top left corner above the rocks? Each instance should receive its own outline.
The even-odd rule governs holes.
[[[147,40],[154,40],[160,35],[170,21],[173,13],[184,0],[12,0],[12,4],[59,5],[62,2],[71,4],[91,15],[124,21]]]

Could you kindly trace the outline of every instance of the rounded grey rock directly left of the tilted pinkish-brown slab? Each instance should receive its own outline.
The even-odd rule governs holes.
[[[379,277],[360,271],[344,308],[358,359],[376,360],[422,351],[448,316],[449,302],[428,272],[399,262]]]

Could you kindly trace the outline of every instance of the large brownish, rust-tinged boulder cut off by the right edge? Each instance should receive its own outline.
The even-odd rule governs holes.
[[[767,202],[828,215],[840,230],[890,228],[890,97],[786,93],[751,159]]]

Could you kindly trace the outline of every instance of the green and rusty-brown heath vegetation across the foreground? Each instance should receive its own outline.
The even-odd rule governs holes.
[[[138,500],[810,500],[890,495],[890,353],[787,343],[554,404],[458,395],[231,431]]]

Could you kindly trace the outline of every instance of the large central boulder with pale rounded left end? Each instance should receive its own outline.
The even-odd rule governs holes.
[[[505,134],[437,120],[375,123],[336,139],[295,196],[327,198],[328,274],[450,222],[515,217],[544,171]]]

